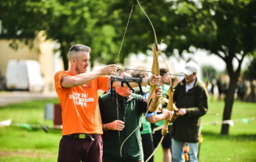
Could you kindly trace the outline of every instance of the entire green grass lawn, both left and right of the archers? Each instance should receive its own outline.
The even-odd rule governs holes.
[[[45,103],[58,103],[58,99],[0,107],[0,121],[11,118],[12,122],[52,125],[53,121],[44,119]],[[206,126],[209,122],[221,121],[223,109],[224,102],[209,101],[208,113],[219,115],[205,115],[202,119],[204,139],[199,161],[256,161],[256,121],[245,124],[239,120],[256,117],[256,104],[234,103],[234,126],[230,126],[229,135],[220,135],[221,125]],[[62,130],[50,129],[49,133],[45,133],[41,128],[28,130],[17,126],[0,127],[0,161],[57,161],[61,138]],[[161,147],[156,151],[155,161],[163,161]]]

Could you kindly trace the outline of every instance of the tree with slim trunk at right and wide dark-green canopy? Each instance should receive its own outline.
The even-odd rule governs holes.
[[[121,6],[131,6],[130,3],[112,3],[108,7],[109,13],[117,11],[120,15],[108,15],[107,22],[117,28],[121,27],[120,19],[123,19],[122,13],[126,11]],[[164,43],[168,45],[164,51],[166,56],[172,56],[173,51],[180,55],[184,52],[192,53],[190,47],[194,46],[197,49],[206,49],[209,54],[219,56],[226,63],[230,83],[223,120],[229,120],[237,80],[241,73],[241,62],[245,56],[254,53],[256,48],[256,1],[163,0],[140,3],[156,29],[158,40],[164,39]],[[151,25],[139,6],[135,5],[123,49],[133,53],[145,52],[153,41]],[[237,68],[233,66],[233,61],[238,62]],[[223,125],[221,134],[228,134],[228,128],[228,125]]]

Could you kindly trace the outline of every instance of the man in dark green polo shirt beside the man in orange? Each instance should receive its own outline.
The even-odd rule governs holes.
[[[119,70],[117,75],[130,76],[127,70]],[[149,113],[156,111],[160,104],[161,94],[162,87],[157,87],[154,96],[155,101],[151,104]],[[112,97],[111,94],[100,96],[99,106],[102,129],[105,131],[102,135],[102,161],[142,161],[143,152],[139,129],[123,144],[122,153],[120,153],[120,148],[130,133],[139,126],[142,113],[147,111],[147,100],[144,100],[143,96],[132,94],[129,87],[115,87]]]

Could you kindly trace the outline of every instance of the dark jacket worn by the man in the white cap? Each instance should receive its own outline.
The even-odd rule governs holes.
[[[207,90],[202,83],[198,83],[196,79],[194,87],[186,92],[186,81],[182,80],[174,88],[173,102],[177,108],[186,109],[184,116],[177,117],[171,128],[171,136],[176,141],[198,143],[201,130],[201,117],[207,113]],[[169,98],[168,94],[164,94],[165,98]],[[163,100],[161,100],[163,103]]]

